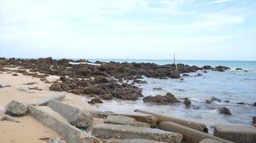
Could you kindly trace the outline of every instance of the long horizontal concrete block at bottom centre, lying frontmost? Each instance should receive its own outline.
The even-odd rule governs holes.
[[[181,134],[167,132],[161,129],[105,123],[94,125],[92,134],[102,139],[113,137],[117,139],[150,139],[169,143],[179,143],[182,139]]]

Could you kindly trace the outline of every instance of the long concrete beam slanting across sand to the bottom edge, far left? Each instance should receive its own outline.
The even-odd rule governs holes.
[[[64,137],[65,141],[68,143],[98,143],[99,139],[90,136],[86,132],[68,124],[68,122],[62,121],[54,116],[52,113],[48,113],[40,107],[35,107],[33,105],[28,105],[28,114],[37,119],[42,124],[58,132]],[[55,113],[57,114],[57,113]]]

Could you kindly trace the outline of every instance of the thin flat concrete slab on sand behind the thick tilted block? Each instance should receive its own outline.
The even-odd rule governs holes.
[[[54,99],[57,101],[63,101],[63,99],[65,99],[65,94],[63,94],[63,93],[57,94],[56,93],[55,95],[51,95],[49,97],[42,97],[38,101],[33,102],[31,104],[35,105],[35,106],[46,106],[51,99]]]

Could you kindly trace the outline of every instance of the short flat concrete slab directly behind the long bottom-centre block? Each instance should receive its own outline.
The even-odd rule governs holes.
[[[135,127],[150,127],[150,124],[137,122],[136,119],[132,117],[126,117],[122,115],[109,115],[104,119],[104,123],[122,124],[122,125],[129,125],[129,126],[135,126]]]

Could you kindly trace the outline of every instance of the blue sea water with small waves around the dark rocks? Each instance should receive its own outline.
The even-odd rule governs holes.
[[[173,60],[133,60],[133,59],[89,59],[90,61],[119,61],[119,62],[150,62],[155,64],[172,64]],[[229,66],[231,70],[225,72],[211,71],[204,73],[197,71],[189,73],[192,77],[179,79],[152,79],[144,77],[147,84],[135,84],[142,88],[142,94],[155,96],[156,94],[166,94],[170,92],[182,101],[182,98],[191,99],[191,107],[185,107],[183,103],[171,105],[157,105],[144,103],[142,99],[137,101],[113,100],[104,101],[99,105],[102,111],[114,111],[121,113],[133,112],[134,109],[145,109],[158,112],[171,117],[180,117],[194,122],[201,122],[209,127],[209,132],[213,132],[215,124],[252,124],[252,117],[256,116],[256,107],[252,104],[256,102],[256,61],[192,61],[176,60],[176,63],[196,65],[196,66]],[[247,71],[236,71],[235,68],[242,68]],[[198,73],[201,77],[193,77]],[[154,87],[163,90],[155,91]],[[206,104],[206,99],[216,97],[221,102]],[[229,100],[229,103],[224,102]],[[244,102],[245,104],[236,104]],[[228,107],[232,115],[219,114],[219,107]]]

